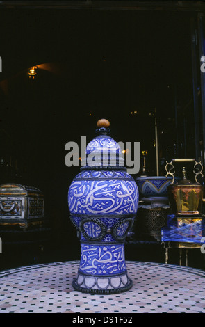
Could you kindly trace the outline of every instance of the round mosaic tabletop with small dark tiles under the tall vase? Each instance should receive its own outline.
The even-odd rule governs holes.
[[[83,294],[72,287],[78,261],[0,271],[0,313],[205,312],[205,271],[126,262],[133,287],[121,294]]]

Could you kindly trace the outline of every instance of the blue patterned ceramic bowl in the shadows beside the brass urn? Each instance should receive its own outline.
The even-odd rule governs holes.
[[[136,183],[142,198],[167,197],[167,186],[172,182],[172,177],[141,176],[136,178]]]

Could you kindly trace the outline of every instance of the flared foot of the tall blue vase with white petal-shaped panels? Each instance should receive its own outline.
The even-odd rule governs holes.
[[[87,276],[79,272],[77,278],[72,282],[76,291],[90,294],[117,294],[131,289],[132,280],[123,273],[118,276]]]

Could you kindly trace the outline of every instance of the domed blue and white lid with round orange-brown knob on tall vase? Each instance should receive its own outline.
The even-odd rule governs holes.
[[[86,163],[83,166],[106,168],[123,167],[124,158],[120,145],[109,135],[110,122],[100,119],[97,122],[95,132],[97,136],[88,143],[86,147]],[[84,159],[85,160],[85,159]]]

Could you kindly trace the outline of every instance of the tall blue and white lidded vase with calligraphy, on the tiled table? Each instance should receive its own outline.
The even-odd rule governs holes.
[[[138,209],[138,186],[126,173],[120,146],[109,136],[108,120],[97,122],[97,137],[68,191],[70,218],[81,242],[74,289],[116,294],[132,286],[124,242]]]

